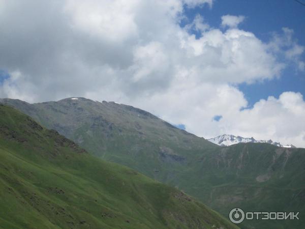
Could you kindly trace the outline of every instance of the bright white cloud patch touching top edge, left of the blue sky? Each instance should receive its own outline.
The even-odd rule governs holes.
[[[124,42],[137,36],[133,11],[138,5],[138,0],[68,0],[65,10],[75,30],[105,41]]]

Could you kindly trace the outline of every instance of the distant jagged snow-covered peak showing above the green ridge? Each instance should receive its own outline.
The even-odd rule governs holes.
[[[210,142],[213,142],[219,146],[231,146],[233,144],[238,143],[246,143],[246,142],[265,142],[271,145],[275,145],[278,147],[285,147],[285,148],[295,148],[293,145],[282,145],[280,142],[272,141],[272,140],[255,140],[253,137],[240,137],[240,136],[234,136],[231,134],[223,134],[219,135],[217,137],[213,137],[210,139],[207,139]]]

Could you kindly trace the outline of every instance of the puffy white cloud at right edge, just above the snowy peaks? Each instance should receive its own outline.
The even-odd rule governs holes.
[[[223,115],[218,125],[223,133],[254,136],[256,139],[280,141],[305,147],[305,101],[300,93],[284,92],[279,99],[270,96],[260,100],[252,109],[236,110]],[[228,133],[228,132],[227,132]]]

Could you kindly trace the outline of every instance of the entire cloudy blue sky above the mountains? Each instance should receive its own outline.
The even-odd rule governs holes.
[[[294,0],[0,0],[0,97],[305,147],[304,19]]]

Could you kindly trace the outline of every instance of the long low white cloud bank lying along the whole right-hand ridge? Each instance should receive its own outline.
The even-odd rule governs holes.
[[[164,94],[126,102],[184,124],[187,131],[205,138],[234,134],[305,147],[305,101],[299,93],[284,92],[278,99],[262,99],[253,108],[240,110],[247,101],[234,87],[180,85]],[[222,116],[218,122],[213,119],[216,115]]]

